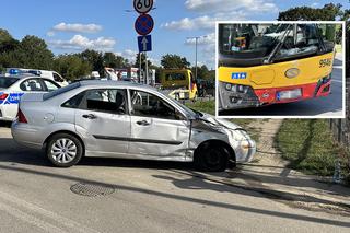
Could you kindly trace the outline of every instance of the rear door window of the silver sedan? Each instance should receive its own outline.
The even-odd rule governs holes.
[[[89,110],[126,114],[126,90],[96,89],[85,92],[82,108]]]

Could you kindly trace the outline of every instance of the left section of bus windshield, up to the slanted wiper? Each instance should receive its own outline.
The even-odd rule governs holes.
[[[237,59],[266,57],[289,27],[290,24],[221,24],[220,53]]]

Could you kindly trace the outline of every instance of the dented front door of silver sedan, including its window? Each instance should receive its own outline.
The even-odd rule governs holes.
[[[162,97],[130,90],[131,139],[129,153],[184,158],[188,148],[190,123]]]

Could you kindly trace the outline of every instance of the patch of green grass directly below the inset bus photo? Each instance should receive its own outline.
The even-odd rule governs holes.
[[[290,167],[306,174],[331,176],[340,159],[341,171],[349,177],[349,153],[332,139],[326,119],[285,119],[276,137],[282,158]]]

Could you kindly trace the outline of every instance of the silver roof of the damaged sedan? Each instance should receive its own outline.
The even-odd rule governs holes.
[[[110,88],[126,88],[126,89],[132,89],[132,88],[141,88],[147,90],[155,90],[154,88],[147,85],[147,84],[140,84],[136,82],[128,82],[128,81],[114,81],[114,80],[84,80],[79,81],[81,86],[110,86]]]

